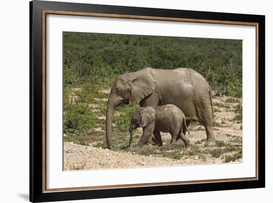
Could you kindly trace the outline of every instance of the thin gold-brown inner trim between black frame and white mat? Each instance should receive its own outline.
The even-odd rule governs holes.
[[[256,28],[256,176],[249,178],[232,178],[232,179],[214,179],[214,180],[198,180],[198,181],[178,181],[178,182],[161,182],[161,183],[144,183],[144,184],[126,184],[126,185],[108,185],[108,186],[92,186],[92,187],[76,187],[76,188],[56,188],[46,189],[46,15],[77,15],[77,16],[93,16],[93,17],[111,17],[111,18],[130,18],[130,19],[146,19],[146,20],[164,20],[164,21],[180,21],[180,22],[198,22],[198,23],[213,23],[213,24],[230,24],[230,25],[248,25]],[[174,18],[174,17],[156,17],[156,16],[141,16],[141,15],[124,15],[124,14],[107,14],[93,12],[73,12],[59,10],[43,10],[43,193],[65,192],[65,191],[82,191],[82,190],[99,190],[99,189],[117,189],[117,188],[136,188],[149,186],[167,186],[167,185],[184,185],[197,183],[219,183],[233,181],[255,181],[258,180],[258,25],[255,22],[240,22],[240,21],[221,21],[221,20],[204,20],[190,18]]]

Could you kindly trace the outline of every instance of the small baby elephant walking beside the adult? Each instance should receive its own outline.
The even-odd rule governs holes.
[[[182,132],[184,127],[189,132],[185,114],[173,104],[137,108],[131,119],[129,146],[133,140],[133,129],[138,127],[143,129],[138,142],[140,147],[146,143],[152,133],[159,146],[162,146],[160,132],[169,132],[172,135],[171,143],[177,140],[177,136],[180,136],[186,147],[190,144],[190,140]]]

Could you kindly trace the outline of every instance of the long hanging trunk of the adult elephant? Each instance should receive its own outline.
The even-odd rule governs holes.
[[[115,110],[115,104],[111,101],[111,95],[107,102],[107,108],[106,108],[106,142],[108,149],[111,149],[111,130],[112,130],[112,122],[113,122],[113,113]]]

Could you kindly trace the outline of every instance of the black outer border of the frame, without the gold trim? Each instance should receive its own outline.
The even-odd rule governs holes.
[[[68,3],[54,1],[30,1],[29,4],[29,48],[30,48],[30,148],[29,148],[29,199],[31,202],[51,202],[145,196],[160,194],[191,193],[205,191],[236,190],[265,187],[265,16],[161,8],[128,7],[85,3]],[[94,12],[108,14],[125,14],[141,16],[191,18],[221,21],[240,21],[258,23],[258,180],[218,183],[199,183],[168,186],[148,186],[118,189],[81,190],[43,193],[43,78],[42,78],[42,15],[43,10],[61,10],[74,12]],[[256,79],[257,80],[257,79]]]

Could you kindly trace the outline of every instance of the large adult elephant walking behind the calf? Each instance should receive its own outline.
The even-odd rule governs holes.
[[[205,78],[192,69],[144,68],[120,75],[113,84],[107,102],[106,141],[109,149],[113,113],[122,103],[139,103],[141,107],[174,104],[186,115],[187,126],[192,120],[198,120],[205,126],[207,145],[215,144],[211,90]]]

